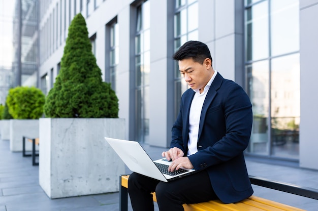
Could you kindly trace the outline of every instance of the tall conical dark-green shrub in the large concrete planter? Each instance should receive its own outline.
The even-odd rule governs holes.
[[[117,118],[118,99],[91,51],[85,19],[77,14],[69,27],[61,68],[44,105],[46,117]]]

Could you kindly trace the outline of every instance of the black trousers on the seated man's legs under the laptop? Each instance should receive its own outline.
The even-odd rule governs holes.
[[[200,203],[217,199],[206,171],[168,183],[137,173],[130,175],[128,192],[134,211],[153,211],[151,193],[154,191],[161,211],[183,211],[184,203]]]

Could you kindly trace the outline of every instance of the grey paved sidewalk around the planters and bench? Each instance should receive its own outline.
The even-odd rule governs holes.
[[[144,146],[152,159],[165,148]],[[249,175],[318,189],[318,171],[261,162],[246,157]],[[131,171],[126,169],[126,173]],[[118,193],[50,199],[39,185],[39,166],[31,157],[11,152],[9,141],[0,140],[0,211],[118,211]],[[253,186],[254,195],[309,211],[318,210],[318,200]],[[131,209],[131,206],[130,210]],[[155,207],[155,210],[158,210]]]

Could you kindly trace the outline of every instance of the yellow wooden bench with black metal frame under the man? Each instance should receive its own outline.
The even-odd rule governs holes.
[[[127,211],[128,210],[128,178],[129,175],[121,175],[120,176],[120,189],[119,189],[119,211]],[[318,200],[318,190],[313,188],[301,187],[289,183],[283,183],[273,180],[267,180],[264,178],[249,176],[249,179],[252,184],[271,188],[275,190],[280,190],[287,193],[292,193],[308,198],[313,198]],[[155,193],[153,195],[153,201],[156,201]],[[268,211],[292,211],[292,210],[304,210],[297,207],[293,207],[290,205],[278,203],[272,200],[268,200],[265,198],[250,196],[247,199],[244,199],[240,202],[225,204],[220,200],[212,200],[203,203],[196,204],[183,204],[185,211],[196,211],[196,210],[231,210],[231,211],[246,211],[246,210],[268,210]]]

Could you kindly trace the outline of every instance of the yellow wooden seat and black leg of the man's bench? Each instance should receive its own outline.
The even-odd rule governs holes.
[[[120,211],[127,210],[127,199],[122,197],[128,197],[127,188],[128,188],[128,178],[129,175],[121,176],[121,193],[120,193]],[[152,193],[153,201],[156,201],[155,193]],[[126,204],[124,204],[126,203]],[[278,203],[272,200],[265,198],[250,196],[247,199],[244,199],[240,202],[225,204],[220,200],[212,200],[196,204],[183,204],[185,211],[301,211],[297,207],[290,205]]]

